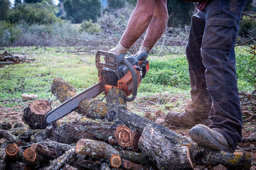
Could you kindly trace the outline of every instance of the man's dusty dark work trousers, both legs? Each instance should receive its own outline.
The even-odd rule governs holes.
[[[233,149],[242,137],[234,46],[246,2],[210,1],[192,16],[186,45],[192,102],[185,111],[208,116]]]

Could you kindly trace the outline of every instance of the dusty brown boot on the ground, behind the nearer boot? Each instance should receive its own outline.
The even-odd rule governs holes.
[[[207,115],[195,115],[192,113],[170,112],[166,115],[166,123],[179,128],[192,128],[197,124],[210,125],[210,119]]]

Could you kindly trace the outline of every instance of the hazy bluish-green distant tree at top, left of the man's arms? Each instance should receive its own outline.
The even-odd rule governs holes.
[[[100,16],[101,3],[99,0],[64,0],[66,17],[73,18],[74,23],[82,23],[92,19],[97,21]]]

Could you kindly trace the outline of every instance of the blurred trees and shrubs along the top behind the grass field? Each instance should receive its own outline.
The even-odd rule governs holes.
[[[167,2],[168,28],[181,32],[169,29],[166,34],[186,38],[183,34],[188,33],[196,4]],[[0,0],[0,46],[58,46],[67,38],[91,39],[94,34],[113,35],[112,40],[118,40],[136,4],[137,0],[59,0],[58,4],[52,0]],[[256,16],[256,0],[249,0],[245,11]],[[251,16],[245,15],[242,20],[248,18]],[[255,20],[241,23],[240,37],[255,37],[255,28]]]

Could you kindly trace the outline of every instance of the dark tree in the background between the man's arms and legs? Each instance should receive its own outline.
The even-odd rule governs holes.
[[[184,28],[190,26],[191,16],[195,11],[194,4],[181,0],[168,0],[169,27]]]

